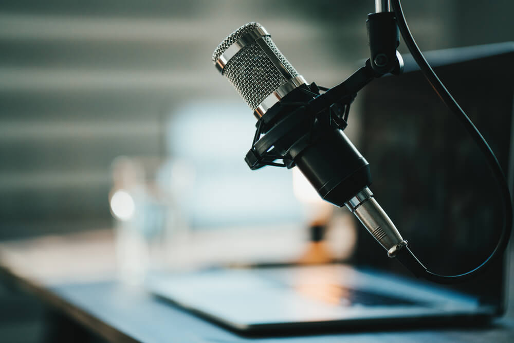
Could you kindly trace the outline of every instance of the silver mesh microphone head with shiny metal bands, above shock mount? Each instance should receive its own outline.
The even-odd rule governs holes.
[[[307,84],[259,23],[232,32],[214,50],[212,61],[257,118],[293,89]]]

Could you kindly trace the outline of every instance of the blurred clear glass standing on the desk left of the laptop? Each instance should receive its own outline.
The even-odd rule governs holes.
[[[172,182],[160,158],[118,157],[113,161],[109,204],[114,218],[120,277],[140,283],[173,254],[171,241],[187,226],[174,205]],[[183,235],[182,235],[183,236]]]

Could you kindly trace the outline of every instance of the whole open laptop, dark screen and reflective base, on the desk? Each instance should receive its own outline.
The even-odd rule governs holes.
[[[485,136],[512,186],[514,43],[426,57]],[[359,123],[354,143],[370,162],[372,190],[420,261],[441,274],[466,272],[498,240],[497,189],[478,148],[412,58],[404,59],[405,73],[377,79],[358,94],[348,128]],[[248,173],[257,177],[261,171]],[[284,204],[289,216],[291,204],[300,206]],[[253,212],[240,214],[251,218]],[[275,213],[273,220],[279,218]],[[505,259],[475,280],[437,285],[415,279],[389,259],[363,228],[357,226],[356,234],[351,256],[341,263],[276,261],[160,273],[146,287],[170,305],[243,334],[469,323],[504,312]]]

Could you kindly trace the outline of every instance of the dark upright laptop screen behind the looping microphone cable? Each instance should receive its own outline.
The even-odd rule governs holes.
[[[443,51],[432,59],[510,185],[513,51],[507,43]],[[377,201],[419,260],[433,272],[461,274],[482,263],[498,242],[502,203],[478,147],[420,71],[410,71],[413,65],[406,60],[407,73],[375,80],[359,94],[362,130],[356,146],[371,165]],[[404,273],[367,232],[358,234],[356,264]],[[499,304],[502,285],[500,262],[480,279],[454,287]]]

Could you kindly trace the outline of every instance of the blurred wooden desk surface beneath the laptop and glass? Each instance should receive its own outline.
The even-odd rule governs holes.
[[[513,251],[510,256],[514,258]],[[510,266],[514,269],[514,263]],[[108,230],[2,243],[0,267],[9,279],[35,293],[66,317],[109,341],[514,341],[512,300],[509,300],[506,316],[485,328],[425,328],[297,337],[241,337],[151,296],[140,286],[128,286],[117,281],[114,240]],[[510,291],[514,290],[512,282],[509,288]]]

